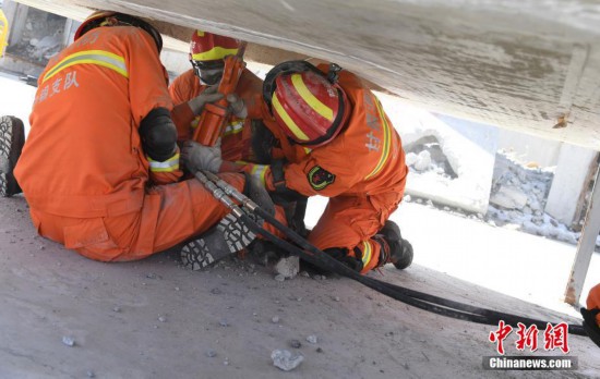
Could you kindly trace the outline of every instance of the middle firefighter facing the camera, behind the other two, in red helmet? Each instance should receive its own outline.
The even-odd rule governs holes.
[[[190,62],[192,69],[179,75],[169,86],[169,94],[173,103],[179,105],[195,98],[205,90],[214,90],[223,77],[225,57],[235,56],[241,48],[238,39],[219,36],[208,32],[195,30],[190,42]],[[238,83],[236,95],[242,99],[245,107],[233,112],[228,119],[221,139],[223,159],[226,161],[255,161],[251,148],[252,126],[251,119],[261,115],[257,106],[262,102],[261,91],[263,82],[244,69]],[[235,105],[235,102],[233,102]],[[232,107],[235,109],[235,107]],[[257,109],[257,112],[248,114],[248,109]],[[199,117],[193,118],[190,124],[178,124],[180,140],[190,139],[197,127]],[[201,130],[201,134],[203,131]]]

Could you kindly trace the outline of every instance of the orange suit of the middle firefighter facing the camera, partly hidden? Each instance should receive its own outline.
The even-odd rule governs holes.
[[[262,86],[263,82],[248,69],[244,69],[240,76],[236,94],[244,100],[249,110],[260,109]],[[206,86],[201,84],[199,77],[194,75],[194,71],[188,70],[171,83],[169,94],[173,103],[181,105],[202,94]],[[260,111],[256,111],[249,113],[245,119],[238,119],[235,115],[229,117],[221,139],[224,160],[232,162],[240,160],[254,161],[251,147],[251,119],[256,119],[260,115]],[[178,138],[180,140],[192,137],[193,130],[197,127],[199,119],[200,117],[194,118],[189,125],[177,124]]]

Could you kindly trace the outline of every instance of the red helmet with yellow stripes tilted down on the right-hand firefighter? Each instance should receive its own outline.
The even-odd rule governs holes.
[[[279,127],[298,144],[324,145],[345,125],[349,105],[335,83],[337,71],[326,77],[308,62],[292,61],[278,64],[267,74],[265,100]]]

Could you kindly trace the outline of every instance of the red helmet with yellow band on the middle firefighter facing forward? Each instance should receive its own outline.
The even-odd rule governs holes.
[[[238,53],[240,44],[239,39],[195,30],[190,42],[190,60],[199,64],[217,63],[223,65],[225,57]]]

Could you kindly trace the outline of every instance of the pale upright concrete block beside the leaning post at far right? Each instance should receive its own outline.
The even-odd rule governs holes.
[[[596,151],[564,144],[561,148],[554,181],[550,188],[545,212],[566,225],[574,222],[577,201],[584,188],[589,166]]]

